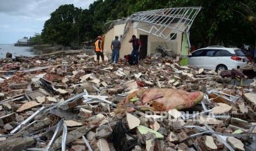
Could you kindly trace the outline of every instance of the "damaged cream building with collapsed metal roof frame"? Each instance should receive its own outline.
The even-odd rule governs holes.
[[[119,36],[120,56],[130,54],[132,45],[128,41],[134,34],[141,40],[140,59],[155,54],[159,46],[169,56],[186,57],[190,48],[189,29],[200,9],[187,7],[140,11],[129,18],[113,21],[105,34],[105,52],[111,53],[111,42],[115,36]]]

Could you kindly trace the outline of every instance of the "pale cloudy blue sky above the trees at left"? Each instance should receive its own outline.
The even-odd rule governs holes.
[[[51,13],[64,4],[89,9],[96,0],[0,0],[0,44],[14,44],[42,32]]]

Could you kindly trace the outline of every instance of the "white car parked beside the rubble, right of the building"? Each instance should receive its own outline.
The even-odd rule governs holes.
[[[246,66],[248,59],[238,48],[206,47],[188,55],[188,65],[216,71]]]

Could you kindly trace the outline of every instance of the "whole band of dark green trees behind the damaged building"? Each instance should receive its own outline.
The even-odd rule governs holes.
[[[34,43],[79,45],[104,34],[110,22],[145,10],[175,7],[202,7],[190,28],[190,42],[205,45],[254,43],[256,3],[253,0],[97,0],[89,9],[61,5],[45,22]],[[105,25],[106,24],[106,25]]]

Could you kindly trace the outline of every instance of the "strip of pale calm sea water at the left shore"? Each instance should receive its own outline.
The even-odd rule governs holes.
[[[32,47],[14,46],[14,44],[0,44],[0,58],[5,58],[6,53],[11,53],[12,58],[16,56],[35,56],[35,51],[32,51]]]

